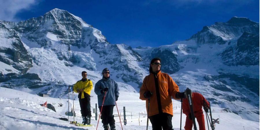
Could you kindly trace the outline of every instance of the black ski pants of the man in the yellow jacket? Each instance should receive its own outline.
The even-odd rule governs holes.
[[[79,94],[79,105],[80,105],[80,112],[81,116],[88,116],[91,117],[91,109],[90,109],[90,96],[88,94],[85,94],[84,92],[84,98],[81,99],[81,93]],[[85,96],[86,95],[86,96]]]

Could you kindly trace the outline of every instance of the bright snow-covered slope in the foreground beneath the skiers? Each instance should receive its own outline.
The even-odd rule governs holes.
[[[17,91],[8,88],[0,87],[0,105],[1,113],[0,117],[0,129],[86,129],[86,127],[77,127],[75,125],[69,124],[67,121],[59,120],[59,118],[68,118],[65,112],[68,110],[68,99],[57,99],[51,97],[40,97],[33,94],[29,94],[22,91]],[[97,103],[97,96],[91,94],[91,106],[94,107]],[[70,96],[71,97],[71,96]],[[76,97],[76,96],[75,96]],[[72,99],[72,97],[70,98]],[[45,101],[51,103],[56,112],[40,106]],[[172,119],[172,124],[174,129],[179,129],[180,123],[180,102],[174,102],[174,116]],[[69,101],[69,109],[71,110],[73,100]],[[61,106],[62,105],[62,106]],[[74,107],[76,112],[76,121],[81,121],[79,102],[77,99],[74,100]],[[119,113],[123,114],[123,106],[126,108],[127,125],[123,125],[125,130],[143,130],[146,129],[146,117],[144,117],[145,101],[139,99],[139,94],[133,92],[123,92],[120,91],[120,96],[117,101]],[[221,130],[257,130],[259,129],[259,122],[249,121],[242,119],[240,116],[225,112],[223,109],[217,107],[212,107],[213,118],[220,118],[220,124],[216,124],[216,129]],[[116,107],[114,107],[114,115],[116,120],[116,129],[121,129],[120,121],[118,118]],[[131,118],[132,113],[132,118]],[[139,118],[139,113],[141,114]],[[99,111],[98,111],[99,115]],[[182,129],[185,125],[185,115],[182,115]],[[253,118],[257,118],[256,115],[252,115]],[[123,116],[122,116],[123,118]],[[94,114],[92,114],[91,122],[92,127],[87,127],[89,130],[96,129],[97,120],[94,120]],[[206,119],[206,118],[205,118]],[[69,120],[73,120],[73,117],[69,117]],[[140,120],[140,125],[139,125]],[[122,121],[122,120],[121,120]],[[207,122],[205,120],[205,122]],[[198,125],[198,124],[197,124]],[[207,124],[206,124],[207,127]],[[99,121],[98,129],[103,129],[101,120]],[[148,129],[151,128],[149,123]]]

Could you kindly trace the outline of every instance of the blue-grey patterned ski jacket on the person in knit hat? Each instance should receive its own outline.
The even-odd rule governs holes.
[[[116,105],[116,96],[117,97],[119,96],[119,89],[117,83],[113,79],[110,79],[110,77],[108,77],[107,79],[103,77],[95,84],[95,89],[94,89],[94,92],[98,96],[99,106],[102,106],[103,99],[105,96],[105,93],[101,93],[101,90],[103,90],[104,88],[108,88],[105,101],[104,101],[104,106]]]

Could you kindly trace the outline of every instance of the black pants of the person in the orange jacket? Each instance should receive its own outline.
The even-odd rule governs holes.
[[[172,115],[167,113],[156,114],[149,117],[153,130],[172,130]]]

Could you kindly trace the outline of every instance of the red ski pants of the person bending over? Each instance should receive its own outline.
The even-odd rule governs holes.
[[[194,112],[194,115],[197,119],[197,122],[199,124],[199,130],[206,130],[205,129],[205,120],[204,120],[204,115],[203,115],[203,112]],[[193,126],[193,123],[192,123],[192,120],[189,119],[189,116],[186,116],[186,122],[185,122],[185,126],[184,126],[184,129],[185,130],[192,130],[192,126]],[[198,128],[198,126],[197,126]]]

